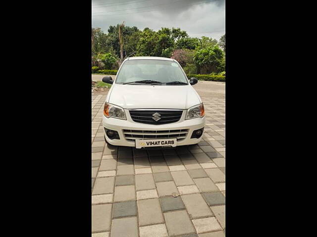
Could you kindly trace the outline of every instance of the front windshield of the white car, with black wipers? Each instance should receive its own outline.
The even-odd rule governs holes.
[[[136,81],[136,82],[135,82]],[[116,79],[117,84],[188,84],[179,64],[168,60],[133,59],[123,63]],[[135,83],[133,83],[135,82]],[[183,83],[178,83],[183,82]]]

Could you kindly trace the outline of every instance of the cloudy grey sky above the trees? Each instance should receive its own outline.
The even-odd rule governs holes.
[[[180,28],[190,37],[225,34],[225,0],[92,0],[92,27],[105,33],[125,22],[143,30]]]

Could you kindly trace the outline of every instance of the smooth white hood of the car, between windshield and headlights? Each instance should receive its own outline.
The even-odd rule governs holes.
[[[124,109],[188,109],[201,103],[191,85],[113,84],[108,102]]]

